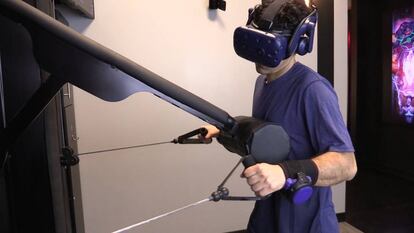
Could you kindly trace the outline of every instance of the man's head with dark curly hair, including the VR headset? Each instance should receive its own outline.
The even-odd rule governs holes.
[[[252,61],[261,74],[287,67],[294,54],[305,55],[313,48],[318,13],[304,0],[263,0],[249,11],[247,25],[234,31],[237,55]],[[283,61],[285,60],[285,61]]]

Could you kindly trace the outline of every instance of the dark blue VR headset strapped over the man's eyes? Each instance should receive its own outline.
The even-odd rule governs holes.
[[[275,6],[261,11],[262,5],[249,10],[247,25],[234,31],[233,46],[237,55],[267,67],[276,67],[292,54],[305,55],[312,52],[317,9],[306,16],[294,32],[272,30],[274,16],[287,1],[274,1]],[[260,13],[260,19],[258,19]]]

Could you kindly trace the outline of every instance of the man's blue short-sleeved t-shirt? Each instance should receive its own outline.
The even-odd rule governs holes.
[[[296,63],[286,74],[266,83],[259,76],[253,117],[281,125],[290,139],[289,159],[309,159],[328,151],[353,152],[351,139],[331,84]],[[339,233],[330,187],[314,187],[310,200],[294,205],[276,192],[257,201],[250,216],[251,233]]]

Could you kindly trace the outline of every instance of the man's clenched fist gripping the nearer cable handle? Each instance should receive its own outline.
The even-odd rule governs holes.
[[[243,177],[247,179],[256,196],[265,197],[279,191],[286,182],[285,174],[279,165],[259,163],[244,170]]]

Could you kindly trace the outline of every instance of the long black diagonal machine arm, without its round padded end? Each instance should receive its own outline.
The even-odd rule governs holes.
[[[23,1],[1,0],[0,15],[27,30],[37,63],[51,74],[50,79],[57,79],[54,82],[60,87],[71,83],[106,101],[123,100],[140,91],[150,92],[222,130],[229,131],[235,127],[234,118],[217,106]],[[0,31],[1,34],[7,33],[4,29]]]

